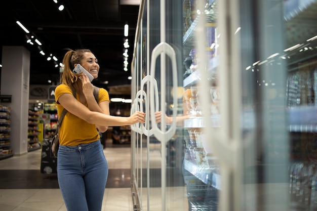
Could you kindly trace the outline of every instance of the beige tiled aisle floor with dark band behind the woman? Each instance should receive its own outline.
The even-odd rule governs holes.
[[[109,176],[102,210],[132,211],[130,145],[110,143],[104,154]],[[0,210],[66,211],[56,176],[41,174],[40,163],[41,150],[0,160]]]

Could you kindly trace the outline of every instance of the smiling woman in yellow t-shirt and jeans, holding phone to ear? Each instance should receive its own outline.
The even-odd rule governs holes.
[[[97,103],[88,76],[72,72],[77,64],[94,78],[99,72],[98,60],[90,50],[69,50],[63,58],[64,71],[55,89],[55,100],[58,116],[64,108],[68,112],[59,130],[58,183],[68,211],[100,211],[108,166],[97,129],[103,133],[108,126],[144,123],[145,113],[109,115],[108,92],[100,89]]]

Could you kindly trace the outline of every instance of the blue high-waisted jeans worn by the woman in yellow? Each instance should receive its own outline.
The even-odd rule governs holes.
[[[68,211],[100,211],[108,177],[108,164],[100,141],[60,145],[57,177]]]

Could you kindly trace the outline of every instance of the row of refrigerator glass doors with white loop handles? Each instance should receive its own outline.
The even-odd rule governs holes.
[[[140,210],[317,208],[317,1],[141,1]]]

